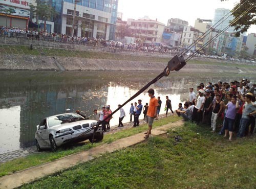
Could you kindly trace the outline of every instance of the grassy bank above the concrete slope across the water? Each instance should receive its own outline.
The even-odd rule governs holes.
[[[87,52],[78,50],[66,50],[66,49],[52,49],[45,47],[35,47],[33,50],[29,49],[29,46],[24,45],[7,45],[0,44],[0,55],[35,55],[35,56],[54,56],[54,57],[79,57],[79,58],[93,58],[93,59],[107,59],[107,60],[126,60],[137,62],[168,62],[170,58],[161,58],[154,56],[138,56],[130,54],[118,54],[118,53],[104,53],[104,52]],[[198,60],[192,59],[189,64],[206,64],[206,65],[228,65],[238,67],[256,67],[255,65],[247,64],[234,64],[227,61],[217,61],[214,59]]]

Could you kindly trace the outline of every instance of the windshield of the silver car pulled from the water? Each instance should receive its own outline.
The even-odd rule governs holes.
[[[67,123],[67,122],[75,122],[79,120],[84,120],[84,118],[76,113],[57,115],[48,118],[49,127],[53,127],[55,125]]]

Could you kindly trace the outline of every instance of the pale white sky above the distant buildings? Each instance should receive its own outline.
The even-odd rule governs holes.
[[[232,9],[238,0],[119,0],[118,12],[123,13],[122,20],[139,19],[148,16],[164,23],[170,18],[180,18],[194,26],[197,18],[213,19],[217,8]],[[248,33],[256,33],[252,26]]]

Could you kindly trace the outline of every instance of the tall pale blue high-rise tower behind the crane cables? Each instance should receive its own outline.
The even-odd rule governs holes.
[[[224,20],[225,18],[227,18],[227,19]],[[226,27],[228,27],[229,22],[231,20],[233,20],[233,16],[231,15],[231,12],[229,9],[224,9],[224,8],[215,9],[215,15],[214,15],[214,28],[215,29],[220,30],[220,31],[224,30]],[[232,32],[234,32],[234,27],[225,29],[224,32],[232,33]]]

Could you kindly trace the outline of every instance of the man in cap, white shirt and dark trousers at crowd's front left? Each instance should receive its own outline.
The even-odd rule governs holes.
[[[203,89],[200,89],[198,91],[199,97],[197,99],[197,105],[194,107],[193,110],[193,116],[192,121],[196,122],[196,124],[199,124],[199,122],[202,120],[203,116],[203,109],[204,109],[204,103],[205,103],[205,91]]]

